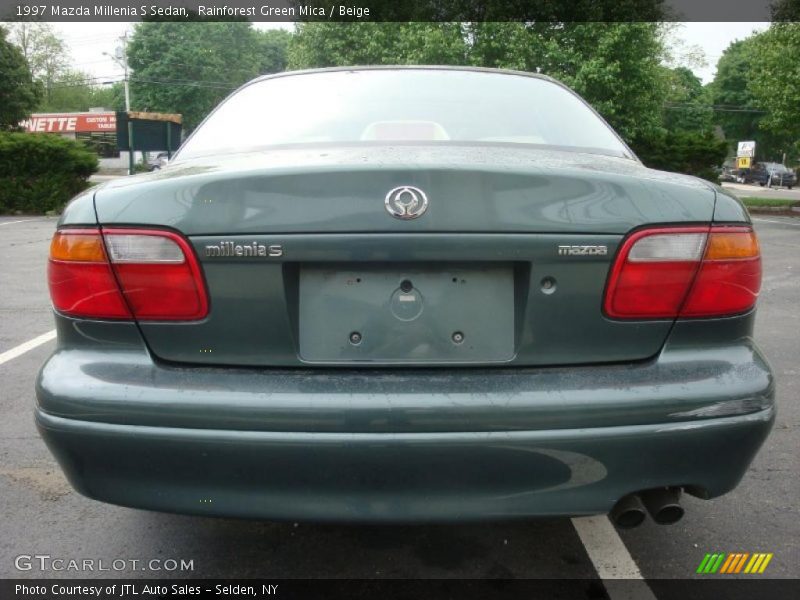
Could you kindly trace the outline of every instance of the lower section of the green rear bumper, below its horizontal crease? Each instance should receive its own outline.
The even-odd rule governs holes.
[[[608,512],[622,496],[736,486],[774,409],[696,423],[509,432],[303,433],[78,421],[37,410],[82,494],[188,514],[449,521]]]

